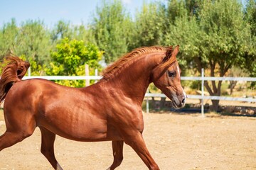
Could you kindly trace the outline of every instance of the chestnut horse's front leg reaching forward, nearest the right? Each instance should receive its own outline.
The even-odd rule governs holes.
[[[124,142],[134,149],[150,170],[159,170],[159,166],[151,157],[149,150],[146,148],[142,133],[139,130],[129,130],[129,133],[124,138]]]

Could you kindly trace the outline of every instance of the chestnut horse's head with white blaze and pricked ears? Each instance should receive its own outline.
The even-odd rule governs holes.
[[[174,50],[172,47],[166,50],[166,57],[152,72],[152,81],[171,99],[175,108],[181,108],[185,105],[186,94],[181,86],[181,69],[176,60],[177,54],[178,46]]]

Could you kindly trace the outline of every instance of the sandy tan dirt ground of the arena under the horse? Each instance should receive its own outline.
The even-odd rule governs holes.
[[[256,118],[206,114],[144,113],[144,139],[160,169],[256,169]],[[0,114],[0,134],[5,131]],[[51,169],[40,152],[38,128],[31,137],[0,152],[2,169]],[[57,137],[55,155],[63,169],[107,169],[111,142],[74,142]],[[124,145],[117,169],[147,169]]]

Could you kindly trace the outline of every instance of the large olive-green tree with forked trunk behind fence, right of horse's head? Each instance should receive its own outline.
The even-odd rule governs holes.
[[[182,58],[198,72],[204,68],[210,70],[210,77],[223,77],[245,60],[250,27],[243,21],[242,5],[237,0],[203,1],[198,6],[197,15],[190,11],[176,16],[165,40],[181,44]],[[220,96],[221,84],[206,81],[205,87],[211,96]],[[212,103],[217,111],[219,101]]]

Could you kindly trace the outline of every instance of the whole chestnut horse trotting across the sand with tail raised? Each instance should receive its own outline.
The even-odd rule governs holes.
[[[185,104],[176,55],[178,46],[141,47],[107,67],[102,79],[85,88],[60,86],[45,79],[21,81],[29,67],[18,57],[7,57],[0,80],[6,132],[0,151],[41,130],[41,152],[54,169],[55,135],[70,140],[112,141],[115,169],[123,159],[124,142],[149,169],[159,169],[142,137],[142,101],[149,84],[171,99],[175,108]]]

